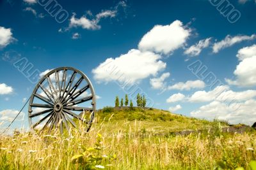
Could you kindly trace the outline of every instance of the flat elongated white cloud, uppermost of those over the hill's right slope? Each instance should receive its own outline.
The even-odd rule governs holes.
[[[191,89],[202,89],[205,87],[204,81],[186,81],[186,83],[179,82],[175,85],[169,86],[168,90],[191,90]]]

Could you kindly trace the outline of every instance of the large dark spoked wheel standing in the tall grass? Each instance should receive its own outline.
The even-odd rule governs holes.
[[[95,117],[95,101],[92,83],[83,72],[59,67],[45,74],[33,90],[29,126],[32,131],[60,129],[62,134],[83,125],[88,132]]]

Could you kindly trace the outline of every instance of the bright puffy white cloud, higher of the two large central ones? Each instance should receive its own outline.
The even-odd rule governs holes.
[[[138,47],[141,51],[169,54],[186,43],[190,32],[179,20],[170,25],[156,25],[143,36]]]

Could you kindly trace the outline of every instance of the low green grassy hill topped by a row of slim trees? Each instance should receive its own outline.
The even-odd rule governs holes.
[[[109,127],[109,132],[124,131],[127,127],[134,128],[135,122],[139,128],[148,132],[172,133],[184,130],[199,130],[211,127],[212,122],[185,117],[170,113],[170,111],[157,110],[153,108],[111,108],[106,107],[97,112],[98,123]],[[108,122],[110,122],[108,124]],[[111,128],[116,125],[117,129]],[[221,125],[227,125],[221,122]]]

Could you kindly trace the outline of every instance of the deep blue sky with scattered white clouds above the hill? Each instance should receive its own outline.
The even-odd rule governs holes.
[[[13,66],[23,57],[42,73],[61,66],[83,71],[97,108],[113,106],[115,96],[127,93],[120,84],[128,83],[154,108],[232,124],[256,122],[255,1],[222,1],[227,11],[207,0],[54,1],[66,20],[56,20],[40,2],[0,1],[3,127],[36,85]],[[207,67],[204,76],[196,74],[198,61]],[[208,85],[209,74],[221,83]]]

